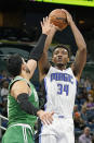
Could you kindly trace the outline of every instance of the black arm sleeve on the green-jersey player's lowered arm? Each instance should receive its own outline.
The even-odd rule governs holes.
[[[37,116],[37,111],[39,110],[29,102],[29,95],[26,93],[22,93],[17,96],[17,103],[21,108],[29,115]]]

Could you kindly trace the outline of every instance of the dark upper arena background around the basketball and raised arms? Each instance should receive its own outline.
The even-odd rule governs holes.
[[[0,0],[3,26],[22,28],[32,41],[38,40],[41,34],[40,21],[54,9],[66,9],[71,13],[73,21],[86,41],[88,57],[94,60],[94,8],[28,0]],[[57,32],[54,41],[69,45],[72,52],[76,53],[77,45],[69,26],[62,33]]]

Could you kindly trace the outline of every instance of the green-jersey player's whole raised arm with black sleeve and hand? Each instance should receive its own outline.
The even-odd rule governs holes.
[[[33,48],[33,50],[30,52],[30,60],[28,60],[27,65],[30,70],[30,78],[33,74],[33,71],[37,67],[37,61],[40,59],[43,48],[44,48],[44,43],[46,39],[46,36],[49,35],[52,24],[49,23],[48,17],[43,17],[43,22],[41,22],[41,27],[42,27],[42,34]]]

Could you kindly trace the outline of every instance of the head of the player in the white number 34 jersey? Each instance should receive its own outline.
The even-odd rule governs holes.
[[[65,45],[57,45],[53,50],[52,61],[55,65],[66,65],[69,61],[70,50]]]

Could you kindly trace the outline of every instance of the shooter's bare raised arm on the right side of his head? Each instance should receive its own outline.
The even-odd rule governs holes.
[[[75,36],[76,44],[78,46],[78,50],[76,53],[75,62],[71,64],[71,69],[77,78],[77,80],[80,80],[82,70],[84,68],[84,64],[86,62],[86,44],[84,41],[84,38],[78,27],[76,26],[75,22],[72,21],[71,15],[66,11],[67,14],[67,21],[69,26],[71,27],[72,34]]]

